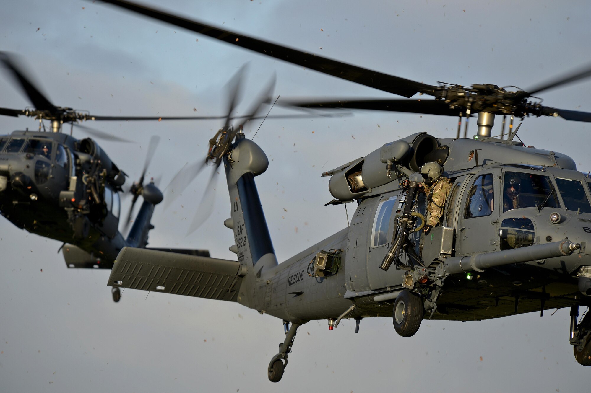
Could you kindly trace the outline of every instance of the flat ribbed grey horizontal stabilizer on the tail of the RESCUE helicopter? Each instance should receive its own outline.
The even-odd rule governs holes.
[[[108,285],[236,302],[239,268],[238,261],[124,247]]]

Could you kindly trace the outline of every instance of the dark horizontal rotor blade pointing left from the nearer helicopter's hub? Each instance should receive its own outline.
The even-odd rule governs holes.
[[[339,108],[389,110],[392,112],[410,112],[424,114],[440,114],[443,116],[459,116],[462,108],[450,109],[449,104],[440,100],[404,100],[404,99],[352,99],[335,101],[283,100],[281,106],[304,108]]]

